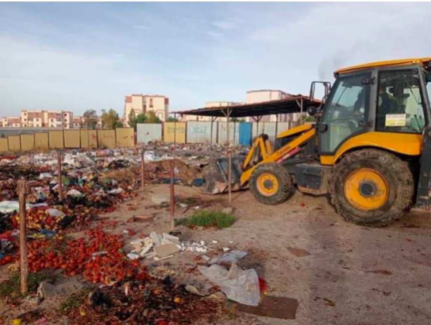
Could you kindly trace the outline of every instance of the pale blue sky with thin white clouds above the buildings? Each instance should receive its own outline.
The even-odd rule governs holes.
[[[431,56],[431,3],[0,3],[0,115],[115,108],[134,93],[170,110],[308,94],[351,64]]]

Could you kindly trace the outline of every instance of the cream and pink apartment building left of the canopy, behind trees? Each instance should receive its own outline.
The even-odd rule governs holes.
[[[124,120],[128,121],[131,110],[135,115],[147,113],[153,110],[156,116],[162,121],[166,121],[169,114],[169,98],[163,95],[143,95],[134,94],[125,96],[124,99]]]

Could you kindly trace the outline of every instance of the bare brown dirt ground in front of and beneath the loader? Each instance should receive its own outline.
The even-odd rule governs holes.
[[[156,213],[154,222],[133,223],[133,229],[137,235],[162,231],[168,212],[149,205],[153,195],[168,191],[168,185],[149,186],[136,200],[136,211],[125,206],[112,217],[125,220]],[[227,195],[203,195],[199,188],[175,186],[175,194],[202,198],[210,209],[229,206]],[[179,227],[181,239],[205,240],[218,250],[227,246],[247,251],[249,256],[240,266],[256,269],[268,282],[270,295],[298,299],[299,307],[296,320],[237,313],[234,320],[219,324],[431,324],[429,214],[410,212],[389,227],[368,228],[345,222],[326,197],[299,192],[277,206],[260,204],[249,191],[236,192],[230,206],[238,217],[233,226],[223,230]],[[183,211],[177,208],[176,217],[192,212]],[[213,240],[218,243],[211,244]],[[300,251],[304,254],[296,256],[292,248],[309,255]],[[194,256],[177,254],[162,265],[180,276],[195,265]],[[199,272],[188,275],[186,282],[205,282]]]

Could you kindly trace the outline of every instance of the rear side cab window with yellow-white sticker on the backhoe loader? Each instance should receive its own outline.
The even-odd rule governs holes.
[[[377,131],[422,133],[426,122],[420,85],[418,69],[379,72]]]

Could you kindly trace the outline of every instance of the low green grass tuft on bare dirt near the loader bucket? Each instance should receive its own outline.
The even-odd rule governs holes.
[[[230,227],[236,221],[232,214],[202,210],[195,212],[190,217],[175,220],[175,225],[216,227],[218,229]]]

